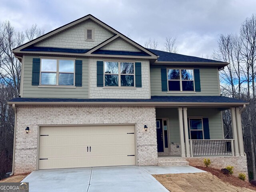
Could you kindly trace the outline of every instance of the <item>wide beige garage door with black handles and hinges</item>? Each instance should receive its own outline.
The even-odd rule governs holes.
[[[39,169],[135,164],[133,125],[42,126]]]

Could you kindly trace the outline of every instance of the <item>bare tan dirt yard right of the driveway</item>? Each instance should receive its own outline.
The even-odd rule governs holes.
[[[255,192],[223,182],[209,173],[153,175],[170,192]]]

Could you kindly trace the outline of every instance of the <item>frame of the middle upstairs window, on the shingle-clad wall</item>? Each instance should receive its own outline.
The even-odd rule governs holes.
[[[105,73],[105,62],[117,62],[118,63],[118,74],[114,73]],[[121,73],[121,63],[133,63],[133,74],[122,74]],[[104,72],[104,77],[103,77],[103,84],[104,87],[111,88],[111,87],[116,87],[116,88],[135,88],[135,62],[134,61],[103,61],[103,72]],[[105,75],[118,75],[118,86],[105,86]],[[132,75],[134,84],[133,86],[121,86],[121,75]]]

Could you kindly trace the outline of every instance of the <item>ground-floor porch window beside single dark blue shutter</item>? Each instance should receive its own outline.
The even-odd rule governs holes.
[[[190,139],[204,139],[204,128],[202,122],[202,118],[189,119]]]

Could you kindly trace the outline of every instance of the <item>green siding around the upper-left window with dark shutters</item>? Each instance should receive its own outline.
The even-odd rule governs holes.
[[[89,61],[82,60],[82,86],[76,88],[49,88],[32,86],[32,61],[36,56],[24,57],[23,97],[24,98],[88,98]]]

